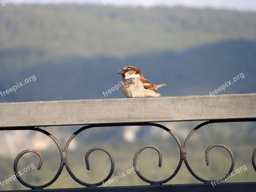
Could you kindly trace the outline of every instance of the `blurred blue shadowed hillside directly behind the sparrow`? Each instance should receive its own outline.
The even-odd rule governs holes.
[[[121,91],[107,97],[102,92],[120,82],[121,76],[116,74],[118,69],[131,65],[140,67],[153,84],[169,84],[160,90],[162,96],[207,95],[241,73],[244,79],[220,94],[256,92],[256,41],[226,41],[179,53],[152,52],[125,59],[74,56],[36,61],[37,64],[30,61],[30,56],[36,58],[40,51],[21,48],[7,52],[0,52],[4,61],[0,90],[9,89],[32,75],[36,76],[36,81],[0,97],[1,102],[124,98]],[[28,63],[32,66],[15,68],[12,64],[17,61],[21,66]]]

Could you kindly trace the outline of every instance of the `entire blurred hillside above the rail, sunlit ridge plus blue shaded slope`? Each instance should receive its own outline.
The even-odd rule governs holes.
[[[256,90],[253,12],[8,5],[0,26],[0,90],[37,77],[0,102],[105,98],[121,79],[115,72],[129,65],[169,84],[162,96],[209,94],[240,73],[220,94]]]

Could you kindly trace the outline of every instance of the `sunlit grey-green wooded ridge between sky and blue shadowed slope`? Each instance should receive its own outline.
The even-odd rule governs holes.
[[[227,40],[256,40],[256,13],[92,5],[8,6],[0,11],[2,50],[43,51],[42,59],[175,51]]]

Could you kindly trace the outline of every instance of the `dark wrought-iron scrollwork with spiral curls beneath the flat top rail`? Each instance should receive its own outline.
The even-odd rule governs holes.
[[[74,174],[73,172],[70,170],[69,166],[68,166],[68,162],[67,162],[67,151],[68,151],[68,146],[70,144],[70,142],[75,138],[75,136],[77,134],[79,134],[80,132],[86,130],[86,129],[89,129],[89,128],[93,128],[93,127],[110,127],[110,126],[156,126],[156,127],[159,127],[161,129],[164,129],[165,131],[169,132],[172,137],[174,137],[174,139],[176,140],[178,146],[179,146],[179,150],[180,150],[180,161],[178,163],[178,166],[177,168],[175,169],[175,171],[172,173],[172,175],[170,177],[168,177],[167,179],[165,180],[161,180],[161,181],[152,181],[152,180],[148,180],[146,179],[145,177],[143,177],[141,175],[141,173],[139,171],[136,171],[137,175],[140,177],[141,180],[147,182],[147,183],[150,183],[150,184],[163,184],[163,183],[166,183],[168,181],[170,181],[177,173],[178,171],[180,170],[180,167],[184,161],[186,167],[188,168],[188,171],[197,179],[197,180],[200,180],[204,183],[208,183],[210,182],[211,180],[205,180],[203,178],[200,178],[198,175],[196,175],[195,172],[193,172],[193,170],[190,168],[189,164],[188,164],[188,161],[187,161],[187,157],[186,157],[186,147],[187,147],[187,144],[188,144],[188,141],[190,139],[190,137],[193,135],[193,133],[195,133],[200,127],[204,126],[204,125],[207,125],[207,124],[212,124],[212,123],[225,123],[225,122],[249,122],[249,121],[256,121],[256,119],[251,119],[251,120],[248,120],[248,119],[238,119],[238,120],[210,120],[210,121],[206,121],[202,124],[199,124],[198,126],[196,126],[196,128],[194,128],[187,136],[185,142],[184,142],[184,145],[182,147],[182,144],[180,143],[179,139],[177,138],[177,136],[171,131],[169,130],[167,127],[161,125],[161,124],[156,124],[156,123],[117,123],[117,124],[94,124],[94,125],[87,125],[87,126],[84,126],[82,128],[80,128],[79,130],[77,130],[67,141],[66,145],[65,145],[65,148],[64,148],[64,151],[59,143],[59,141],[53,137],[49,132],[45,131],[45,130],[42,130],[42,129],[39,129],[39,128],[35,128],[35,127],[12,127],[12,128],[8,128],[8,130],[33,130],[33,131],[37,131],[37,132],[41,132],[45,135],[47,135],[48,137],[50,137],[54,143],[57,145],[59,151],[60,151],[60,167],[59,167],[59,170],[58,172],[56,173],[56,175],[54,176],[54,178],[49,181],[48,183],[44,184],[44,185],[40,185],[40,186],[36,186],[36,185],[31,185],[31,184],[28,184],[27,182],[25,182],[24,180],[22,180],[21,177],[17,177],[17,179],[20,181],[21,184],[23,184],[24,186],[28,187],[28,188],[45,188],[45,187],[48,187],[50,186],[53,182],[55,182],[55,180],[57,180],[57,178],[60,176],[62,170],[63,170],[63,166],[65,165],[68,173],[70,174],[70,176],[77,182],[77,183],[80,183],[81,185],[84,185],[86,187],[91,187],[91,186],[100,186],[102,185],[104,182],[108,181],[108,179],[112,176],[113,172],[114,172],[114,167],[115,167],[115,163],[114,163],[114,158],[113,156],[111,155],[111,153],[105,149],[105,148],[102,148],[102,147],[96,147],[96,148],[91,148],[85,155],[85,164],[86,164],[86,167],[87,167],[87,170],[90,170],[90,166],[89,166],[89,155],[95,151],[95,150],[102,150],[104,151],[105,153],[107,153],[107,155],[109,156],[110,158],[110,161],[111,161],[111,169],[110,169],[110,172],[108,174],[108,176],[98,182],[98,183],[85,183],[81,180],[79,180]],[[5,128],[0,128],[0,130],[7,130]],[[230,170],[228,171],[228,173],[225,175],[225,176],[228,176],[234,169],[234,165],[235,165],[235,158],[234,158],[234,155],[232,153],[232,151],[225,145],[223,144],[212,144],[211,146],[209,146],[206,151],[205,151],[205,158],[206,158],[206,164],[209,165],[209,151],[213,148],[213,147],[222,147],[222,148],[225,148],[230,156],[231,156],[231,160],[232,160],[232,163],[231,163],[231,167],[230,167]],[[162,152],[155,146],[152,146],[152,145],[145,145],[143,147],[141,147],[140,149],[138,149],[138,151],[136,152],[135,156],[134,156],[134,159],[133,159],[133,166],[138,166],[137,165],[137,157],[138,155],[140,154],[140,152],[142,150],[144,150],[145,148],[153,148],[155,149],[157,152],[158,152],[158,155],[159,155],[159,163],[158,163],[158,166],[161,167],[162,165]],[[14,168],[14,172],[17,173],[18,171],[18,162],[21,158],[21,156],[23,156],[25,153],[36,153],[39,158],[40,158],[40,161],[39,161],[39,164],[38,164],[38,170],[41,168],[42,164],[43,164],[43,156],[40,154],[39,151],[35,150],[35,149],[27,149],[27,150],[24,150],[22,151],[15,159],[14,161],[14,165],[13,165],[13,168]],[[256,164],[255,164],[255,156],[256,156],[256,148],[255,150],[253,151],[253,154],[252,154],[252,165],[253,165],[253,168],[254,170],[256,171]],[[224,177],[225,177],[224,176]],[[223,178],[224,178],[223,177]],[[213,181],[213,180],[212,180]],[[217,181],[217,180],[215,180]]]

